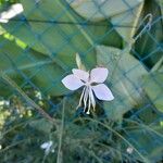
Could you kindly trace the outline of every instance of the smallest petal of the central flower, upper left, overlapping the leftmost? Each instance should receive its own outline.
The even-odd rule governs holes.
[[[88,72],[85,72],[82,70],[76,70],[76,68],[74,68],[72,72],[78,79],[82,79],[84,82],[88,82],[88,78],[89,78]]]

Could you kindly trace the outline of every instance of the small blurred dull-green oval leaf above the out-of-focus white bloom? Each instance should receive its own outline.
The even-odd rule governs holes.
[[[40,118],[40,120],[30,121],[29,126],[32,126],[36,130],[42,131],[45,134],[49,134],[53,127],[53,124],[45,118]]]

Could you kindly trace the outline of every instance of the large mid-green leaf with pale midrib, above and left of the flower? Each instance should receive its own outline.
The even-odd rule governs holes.
[[[82,54],[87,67],[96,64],[95,43],[115,47],[122,39],[108,22],[88,24],[63,1],[22,0],[24,16],[17,16],[3,28],[35,51],[55,58],[65,67],[74,67],[75,53]],[[63,13],[63,14],[62,14]]]

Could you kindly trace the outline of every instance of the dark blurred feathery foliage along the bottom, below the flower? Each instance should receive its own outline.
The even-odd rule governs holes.
[[[143,162],[151,159],[156,161],[162,156],[163,148],[161,143],[158,143],[163,141],[163,137],[160,136],[162,126],[159,123],[148,127],[148,125],[136,121],[124,118],[122,125],[120,125],[117,122],[106,117],[95,116],[91,118],[83,113],[76,114],[74,118],[70,120],[70,116],[74,114],[74,101],[71,98],[65,101],[65,105],[71,108],[68,106],[67,110],[65,106],[64,115],[61,113],[62,105],[60,106],[61,111],[55,114],[58,122],[58,127],[55,128],[50,122],[39,117],[33,108],[27,109],[26,103],[21,105],[23,106],[24,104],[25,106],[22,109],[32,111],[32,114],[22,114],[20,109],[18,113],[16,113],[17,109],[10,106],[12,116],[7,117],[1,130],[2,149],[0,150],[0,156],[3,158],[2,163],[13,161],[16,163],[41,162],[43,159],[46,162],[55,162],[59,148],[58,138],[60,137],[63,116],[64,127],[61,149],[63,162],[87,162],[88,160],[104,163],[120,162],[121,160],[130,162],[139,160]],[[141,121],[143,118],[147,117],[141,117]],[[138,136],[139,134],[140,136]],[[152,139],[156,141],[152,141]],[[48,140],[53,141],[54,153],[50,152],[45,155],[40,145]],[[126,151],[130,143],[134,149],[131,154]],[[136,149],[139,152],[148,152],[149,150],[150,152],[141,155]]]

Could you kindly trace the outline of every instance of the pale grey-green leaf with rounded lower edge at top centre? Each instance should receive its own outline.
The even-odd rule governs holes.
[[[89,21],[101,21],[114,15],[124,13],[137,5],[140,4],[141,1],[127,0],[126,2],[122,0],[66,0],[68,4],[83,17]]]

